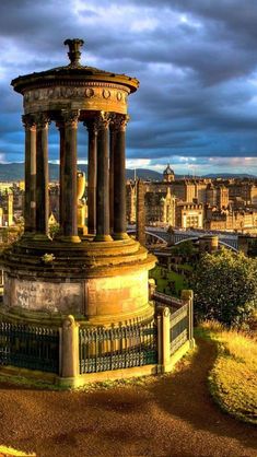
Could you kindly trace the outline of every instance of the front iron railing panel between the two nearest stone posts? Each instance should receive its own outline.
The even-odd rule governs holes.
[[[80,373],[97,373],[157,363],[154,323],[79,332]]]

